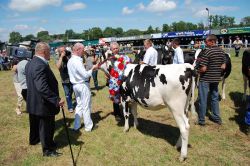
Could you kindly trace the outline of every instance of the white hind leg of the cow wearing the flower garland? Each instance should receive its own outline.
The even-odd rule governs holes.
[[[184,161],[187,158],[188,148],[188,136],[189,136],[189,122],[188,118],[184,113],[184,106],[170,107],[175,118],[175,121],[180,129],[180,138],[177,141],[176,146],[179,148],[181,145],[181,156],[180,161]]]

